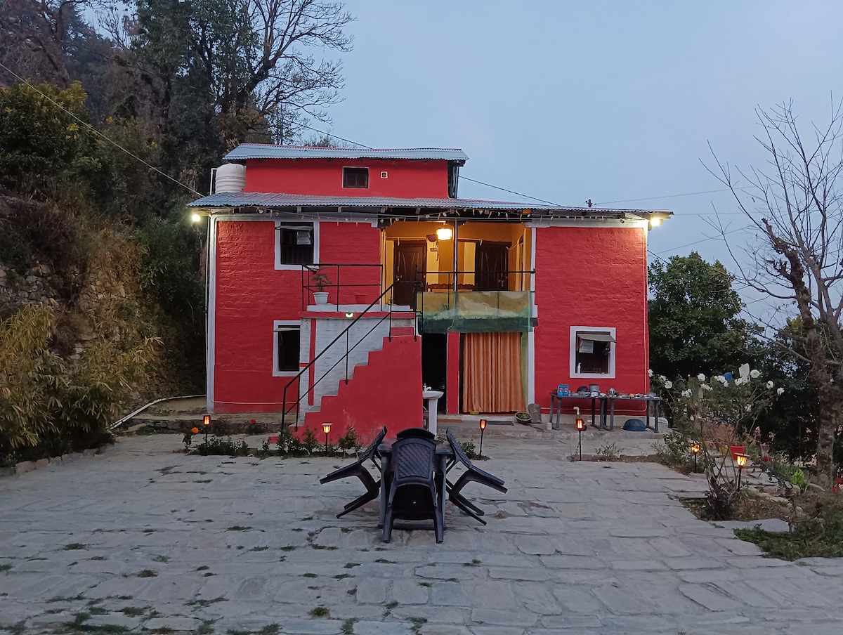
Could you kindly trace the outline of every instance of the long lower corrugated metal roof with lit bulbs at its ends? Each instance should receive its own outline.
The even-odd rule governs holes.
[[[406,207],[414,209],[506,209],[533,210],[534,214],[571,213],[577,216],[620,216],[625,213],[648,216],[652,213],[672,215],[643,209],[609,209],[601,207],[561,207],[542,203],[515,203],[503,201],[477,201],[469,198],[398,198],[395,196],[310,196],[259,191],[220,192],[205,196],[188,204],[189,207],[343,207],[344,212],[354,212],[354,207],[371,212],[379,207]]]

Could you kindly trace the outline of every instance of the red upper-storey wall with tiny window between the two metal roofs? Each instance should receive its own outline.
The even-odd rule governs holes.
[[[342,169],[368,168],[368,189],[342,186]],[[388,178],[382,179],[385,171]],[[315,196],[448,196],[448,161],[409,159],[250,159],[244,191]],[[375,261],[376,262],[376,261]]]

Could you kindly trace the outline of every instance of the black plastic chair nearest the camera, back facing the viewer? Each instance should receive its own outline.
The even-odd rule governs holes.
[[[436,541],[442,542],[445,519],[439,492],[442,492],[445,475],[438,465],[436,444],[431,439],[396,440],[384,478],[389,484],[384,509],[384,542],[392,538],[395,519],[432,519]]]

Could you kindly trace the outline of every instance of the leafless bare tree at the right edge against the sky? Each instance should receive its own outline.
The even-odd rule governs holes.
[[[715,156],[709,170],[733,193],[759,239],[749,264],[735,259],[751,288],[796,304],[805,358],[819,394],[819,482],[834,476],[835,435],[843,401],[843,205],[838,179],[843,171],[843,104],[832,109],[824,128],[800,132],[792,102],[757,110],[763,132],[755,137],[768,154],[767,166],[735,170]]]

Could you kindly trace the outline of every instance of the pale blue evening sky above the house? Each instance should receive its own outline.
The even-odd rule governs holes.
[[[843,98],[839,0],[346,0],[343,101],[319,126],[373,148],[462,148],[460,175],[561,205],[668,210],[651,260],[735,266],[744,219],[711,148],[763,167],[756,108],[806,130]],[[696,192],[707,192],[695,194]],[[678,196],[681,195],[681,196]],[[459,196],[522,197],[460,180]],[[760,302],[748,296],[749,302]],[[761,303],[763,304],[763,303]]]

